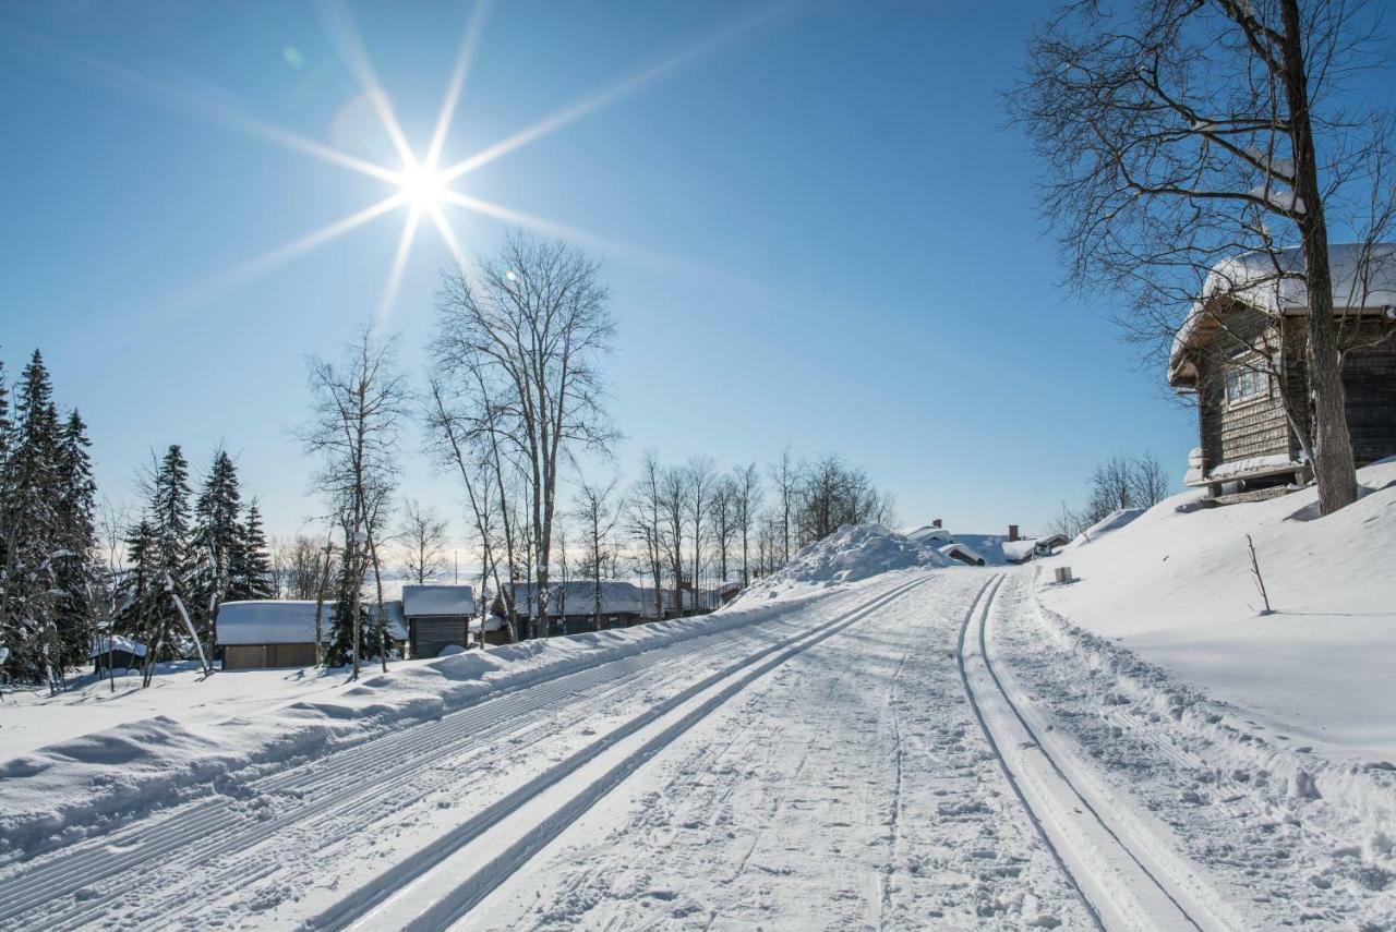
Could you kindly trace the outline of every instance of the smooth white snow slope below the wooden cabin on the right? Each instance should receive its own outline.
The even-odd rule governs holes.
[[[1185,493],[1055,558],[1079,582],[1041,599],[1244,709],[1276,746],[1396,762],[1396,459],[1358,479],[1376,491],[1311,520],[1312,488],[1180,512]],[[1273,615],[1259,615],[1247,534]]]

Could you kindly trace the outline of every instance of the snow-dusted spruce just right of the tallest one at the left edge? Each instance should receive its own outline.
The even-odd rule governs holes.
[[[98,585],[94,555],[96,553],[96,483],[92,480],[91,441],[87,424],[74,410],[59,439],[57,462],[57,550],[54,551],[54,582],[57,583],[59,640],[63,664],[81,664],[92,643],[95,604],[94,586]]]

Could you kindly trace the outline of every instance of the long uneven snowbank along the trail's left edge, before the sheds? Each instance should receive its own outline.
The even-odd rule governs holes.
[[[370,668],[357,682],[348,682],[345,671],[317,670],[219,672],[207,682],[174,674],[156,678],[152,689],[126,688],[107,703],[106,720],[91,713],[107,689],[102,682],[54,703],[8,706],[0,728],[0,854],[42,850],[209,790],[236,791],[244,779],[438,717],[494,691],[772,621],[822,594],[792,592],[697,618],[396,661],[389,672]],[[35,717],[56,730],[14,727]],[[43,734],[52,739],[35,746]]]

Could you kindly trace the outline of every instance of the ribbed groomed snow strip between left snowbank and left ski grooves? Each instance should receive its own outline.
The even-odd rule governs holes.
[[[430,823],[438,806],[469,805],[462,787],[479,787],[473,798],[484,806],[507,786],[511,769],[563,758],[570,748],[557,738],[589,737],[662,699],[664,689],[804,635],[811,618],[853,600],[867,604],[903,583],[832,594],[801,612],[803,626],[783,618],[755,622],[486,696],[438,720],[251,780],[235,795],[156,812],[8,865],[0,875],[0,924],[283,925],[278,907],[304,896],[296,887],[314,883],[310,871],[345,855],[350,864],[363,861],[346,848],[363,840],[367,826],[388,823],[391,834],[410,834],[403,826]],[[384,845],[366,847],[371,859],[385,859]]]

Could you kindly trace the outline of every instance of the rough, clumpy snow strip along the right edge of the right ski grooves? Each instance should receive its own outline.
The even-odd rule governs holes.
[[[1182,710],[1166,700],[1177,684],[1141,692],[1083,663],[1053,636],[1030,585],[1025,575],[1005,593],[990,635],[1005,677],[1069,738],[1078,772],[1198,865],[1233,926],[1396,928],[1392,875],[1364,865],[1353,833],[1329,830],[1347,826],[1325,799],[1295,797],[1261,767],[1220,763],[1228,758],[1210,737],[1175,721]]]

